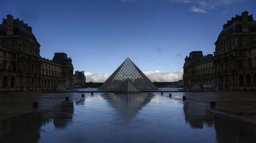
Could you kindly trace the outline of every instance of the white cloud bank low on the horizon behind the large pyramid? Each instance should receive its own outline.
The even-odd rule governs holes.
[[[173,72],[143,72],[152,82],[174,82],[182,79],[183,70],[175,70]],[[85,72],[86,82],[105,82],[111,74],[99,74]]]

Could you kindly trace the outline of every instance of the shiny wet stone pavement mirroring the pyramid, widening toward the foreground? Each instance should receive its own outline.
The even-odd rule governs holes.
[[[0,122],[0,143],[256,142],[254,125],[159,93],[79,95],[80,100],[73,95],[73,101]]]

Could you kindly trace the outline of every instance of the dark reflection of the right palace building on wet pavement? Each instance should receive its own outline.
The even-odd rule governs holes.
[[[248,138],[248,142],[250,142],[250,140],[255,139],[256,129],[252,129],[249,125],[231,121],[213,115],[206,110],[195,109],[191,106],[184,105],[183,110],[186,122],[194,129],[193,132],[195,133],[197,133],[197,131],[199,133],[203,132],[202,134],[206,136],[207,134],[213,134],[215,132],[216,135],[213,134],[212,139],[216,136],[216,140],[220,143],[241,143],[245,138]],[[207,127],[214,127],[215,130],[208,131]],[[212,133],[207,133],[207,131]]]

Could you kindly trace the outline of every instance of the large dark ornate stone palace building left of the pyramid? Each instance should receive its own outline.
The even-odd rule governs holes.
[[[65,53],[55,53],[52,60],[40,57],[40,44],[32,27],[3,18],[0,25],[0,91],[52,89],[59,83],[73,88],[73,65]]]

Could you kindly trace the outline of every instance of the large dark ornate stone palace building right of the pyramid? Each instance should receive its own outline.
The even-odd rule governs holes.
[[[245,11],[232,17],[215,42],[215,52],[190,52],[183,66],[184,88],[256,90],[256,21]]]

